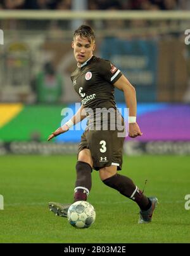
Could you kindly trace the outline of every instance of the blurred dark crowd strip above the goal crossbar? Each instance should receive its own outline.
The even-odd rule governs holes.
[[[79,1],[79,0],[78,0]],[[189,0],[86,0],[87,10],[187,10]],[[6,10],[71,10],[72,0],[0,0]]]

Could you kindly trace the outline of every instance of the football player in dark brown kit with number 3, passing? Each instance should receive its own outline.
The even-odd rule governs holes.
[[[47,140],[65,133],[87,117],[87,128],[79,144],[74,201],[87,200],[91,191],[93,168],[99,171],[99,177],[105,185],[116,189],[139,205],[139,223],[151,222],[158,199],[146,198],[131,179],[117,173],[117,170],[122,169],[125,136],[118,136],[124,120],[115,105],[114,88],[124,91],[125,102],[129,108],[129,137],[132,138],[143,134],[136,123],[136,91],[113,64],[93,55],[95,36],[91,27],[81,25],[75,30],[72,48],[77,60],[77,69],[72,73],[71,79],[82,105],[79,111],[65,125],[51,133]],[[106,111],[110,111],[110,115],[102,118],[101,114]],[[113,113],[114,117],[111,115]],[[116,119],[120,121],[120,125],[118,122],[115,124]],[[107,128],[103,129],[105,123]],[[49,203],[50,210],[61,217],[66,217],[69,206]]]

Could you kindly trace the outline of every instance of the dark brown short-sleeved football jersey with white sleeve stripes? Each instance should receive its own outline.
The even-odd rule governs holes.
[[[115,124],[115,118],[120,114],[115,104],[115,86],[113,84],[121,76],[122,72],[109,60],[95,56],[92,56],[91,59],[72,72],[71,79],[75,91],[79,94],[81,103],[84,105],[88,118],[88,128],[91,125],[94,126],[95,123],[102,125],[103,114],[105,114],[105,123],[108,125],[110,123]],[[108,117],[108,113],[106,113],[108,109],[111,109],[111,117]]]

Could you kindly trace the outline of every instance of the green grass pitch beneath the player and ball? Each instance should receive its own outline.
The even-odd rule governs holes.
[[[92,172],[88,198],[96,209],[89,229],[75,229],[49,212],[48,201],[73,199],[76,156],[1,156],[0,243],[189,243],[189,156],[124,157],[121,174],[129,176],[159,205],[151,224],[137,224],[136,203],[106,187]]]

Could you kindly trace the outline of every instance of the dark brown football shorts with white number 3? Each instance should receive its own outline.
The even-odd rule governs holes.
[[[82,134],[78,154],[82,149],[91,151],[93,169],[115,165],[122,170],[124,137],[118,137],[118,131],[86,130]]]

